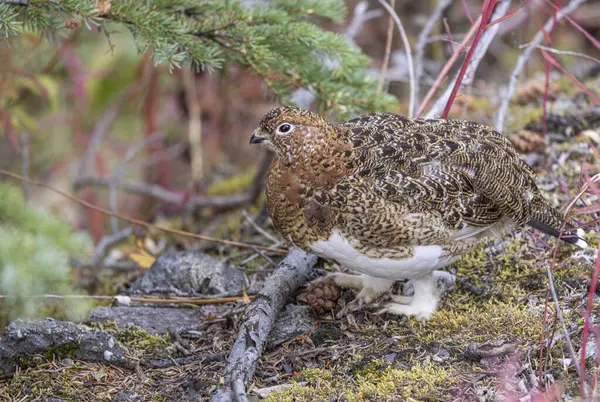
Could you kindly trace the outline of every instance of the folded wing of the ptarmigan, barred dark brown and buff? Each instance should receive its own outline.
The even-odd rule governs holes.
[[[352,144],[348,165],[386,200],[412,211],[440,211],[460,236],[532,217],[534,173],[508,139],[461,120],[407,119],[379,113],[340,124]]]

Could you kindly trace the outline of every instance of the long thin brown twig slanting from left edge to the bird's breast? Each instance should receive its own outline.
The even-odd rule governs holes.
[[[248,243],[242,243],[242,242],[238,242],[238,241],[232,241],[232,240],[224,240],[224,239],[217,239],[214,237],[210,237],[210,236],[203,236],[203,235],[199,235],[196,233],[190,233],[190,232],[186,232],[184,230],[178,230],[178,229],[172,229],[166,226],[162,226],[162,225],[153,225],[151,223],[142,221],[140,219],[135,219],[135,218],[130,218],[128,216],[124,216],[124,215],[120,215],[120,214],[116,214],[116,213],[112,213],[107,209],[101,208],[97,205],[91,204],[85,200],[82,200],[81,198],[75,197],[72,194],[67,193],[66,191],[62,191],[59,190],[57,188],[54,188],[52,186],[49,186],[46,183],[42,183],[40,181],[37,180],[31,180],[31,179],[27,179],[21,175],[9,172],[7,170],[4,169],[0,169],[0,174],[4,175],[4,176],[8,176],[8,177],[12,177],[14,179],[17,180],[25,180],[27,181],[29,184],[32,184],[34,186],[38,186],[38,187],[43,187],[43,188],[47,188],[50,191],[55,192],[56,194],[60,194],[65,198],[68,198],[71,201],[74,201],[80,205],[83,205],[86,208],[89,209],[93,209],[94,211],[100,212],[101,214],[104,214],[106,216],[116,216],[117,218],[132,223],[134,225],[140,225],[143,226],[145,228],[148,229],[156,229],[156,230],[160,230],[163,232],[167,232],[167,233],[172,233],[172,234],[176,234],[179,236],[185,236],[185,237],[189,237],[192,239],[198,239],[198,240],[206,240],[209,242],[213,242],[213,243],[220,243],[220,244],[225,244],[228,246],[233,246],[233,247],[242,247],[242,248],[252,248],[252,249],[259,249],[259,250],[264,250],[264,251],[270,251],[273,253],[278,253],[278,254],[285,254],[285,250],[282,249],[278,249],[278,248],[273,248],[273,247],[264,247],[264,246],[257,246],[254,244],[248,244]]]

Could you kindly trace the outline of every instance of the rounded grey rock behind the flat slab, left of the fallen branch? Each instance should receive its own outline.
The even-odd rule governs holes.
[[[229,264],[197,251],[183,251],[159,257],[136,281],[132,291],[151,293],[168,289],[195,295],[238,293],[246,275]]]

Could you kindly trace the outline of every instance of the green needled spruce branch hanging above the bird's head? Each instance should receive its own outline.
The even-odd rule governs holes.
[[[378,96],[376,80],[366,74],[369,59],[345,36],[312,22],[320,17],[340,23],[346,12],[342,0],[272,0],[251,6],[112,0],[110,7],[94,0],[29,0],[0,4],[0,35],[16,38],[25,28],[54,37],[67,29],[69,19],[88,27],[113,22],[131,32],[140,52],[151,52],[155,63],[170,69],[188,62],[208,71],[239,65],[257,73],[279,102],[293,101],[299,88],[312,88],[317,106],[339,117],[390,110],[396,101]]]

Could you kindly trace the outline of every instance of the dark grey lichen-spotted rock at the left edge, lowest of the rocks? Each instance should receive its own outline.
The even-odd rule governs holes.
[[[126,365],[125,351],[109,333],[83,329],[72,322],[16,320],[0,339],[0,373],[10,374],[28,356],[73,358]]]

